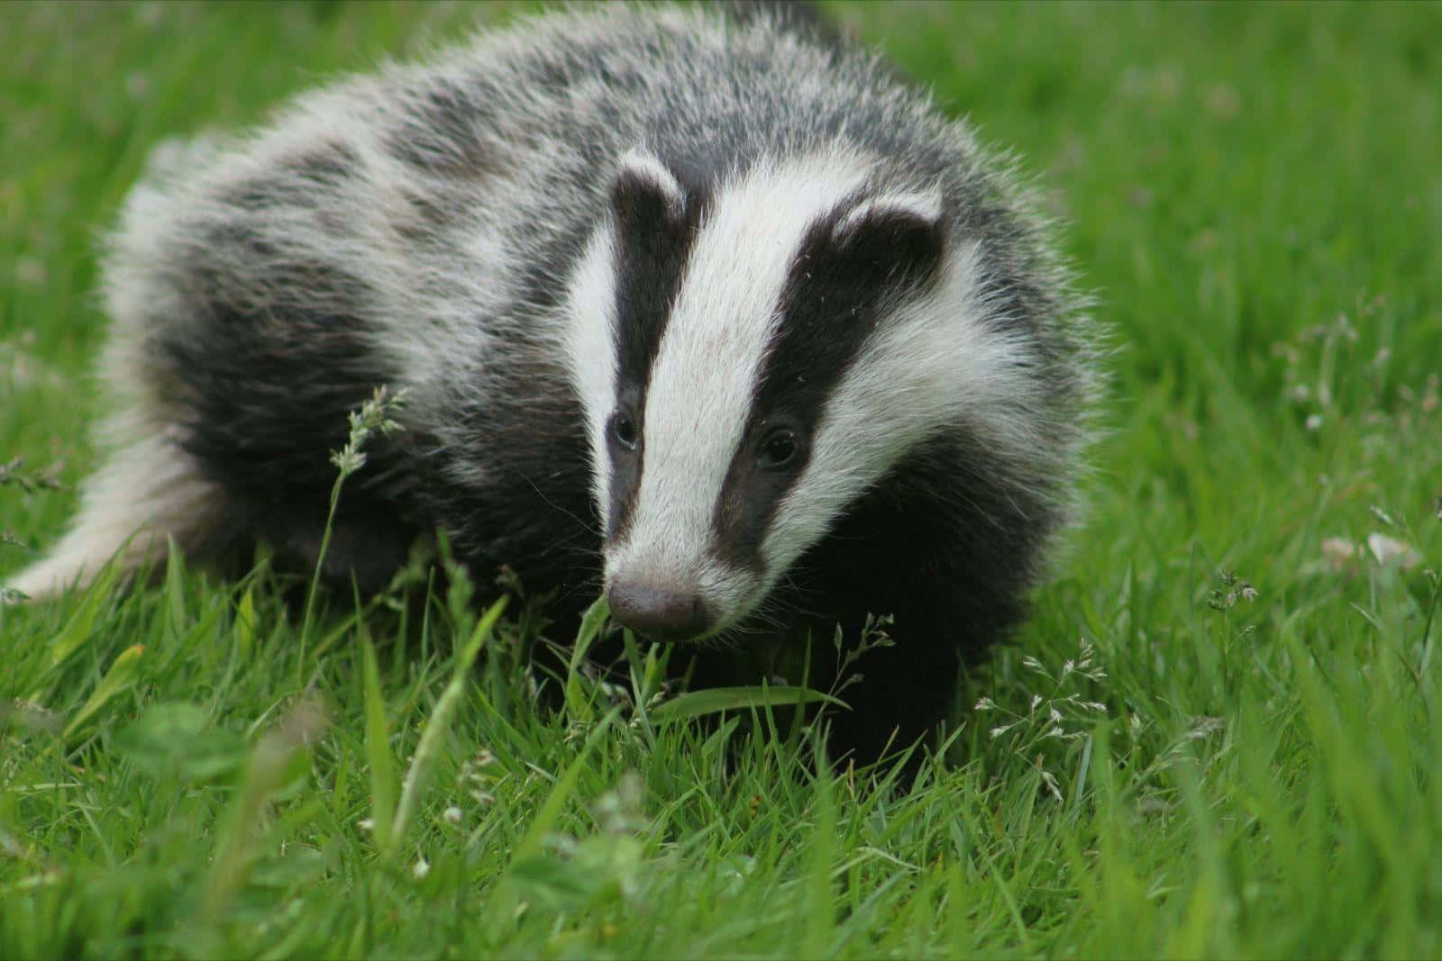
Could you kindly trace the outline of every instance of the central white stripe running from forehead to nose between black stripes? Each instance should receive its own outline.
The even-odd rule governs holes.
[[[792,261],[808,228],[865,176],[848,156],[803,157],[718,190],[650,369],[640,490],[609,572],[695,576],[707,565]]]

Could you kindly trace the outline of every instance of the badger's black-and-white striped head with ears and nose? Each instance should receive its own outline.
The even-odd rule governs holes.
[[[1015,344],[933,184],[848,156],[686,189],[620,164],[571,288],[613,615],[658,640],[751,614],[916,444],[985,403]]]

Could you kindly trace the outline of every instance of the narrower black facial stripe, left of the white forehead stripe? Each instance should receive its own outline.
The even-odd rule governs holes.
[[[634,451],[611,457],[610,523],[606,537],[622,536],[630,524],[646,457],[646,388],[660,349],[660,337],[681,288],[686,258],[709,207],[705,195],[686,197],[682,212],[669,207],[668,195],[645,177],[623,171],[611,187],[616,225],[616,405],[627,408],[642,442]]]

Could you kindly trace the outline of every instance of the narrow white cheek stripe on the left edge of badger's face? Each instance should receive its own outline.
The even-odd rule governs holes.
[[[610,523],[611,503],[606,422],[616,406],[617,377],[616,241],[611,228],[603,228],[591,238],[571,284],[567,311],[571,316],[565,343],[571,383],[585,414],[585,434],[591,444],[591,497],[604,530]]]

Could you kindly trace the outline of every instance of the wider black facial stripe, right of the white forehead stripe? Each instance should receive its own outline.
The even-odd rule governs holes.
[[[806,470],[822,408],[855,365],[887,308],[940,271],[945,232],[908,213],[880,212],[838,241],[836,223],[858,199],[839,203],[806,232],[782,288],[780,324],[751,399],[751,419],[717,497],[717,553],[763,573],[760,547],[776,506]],[[802,438],[780,470],[756,462],[771,431]]]

